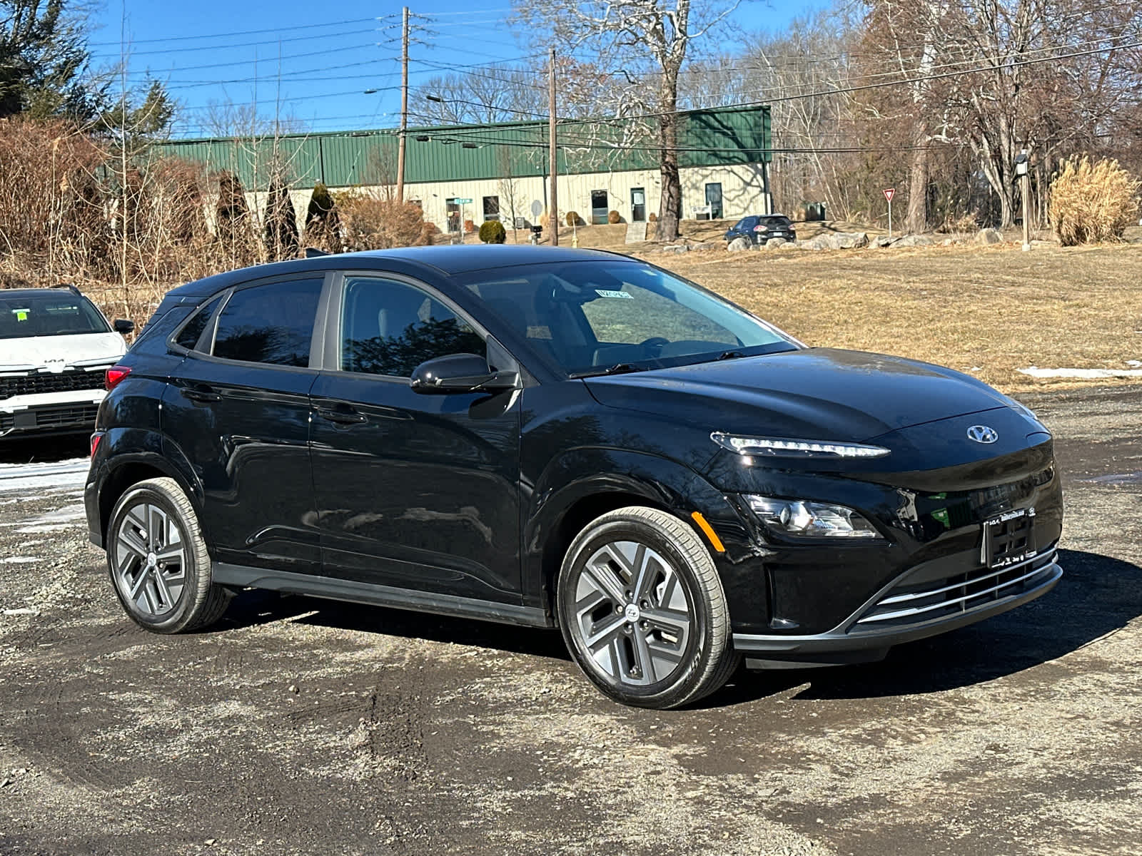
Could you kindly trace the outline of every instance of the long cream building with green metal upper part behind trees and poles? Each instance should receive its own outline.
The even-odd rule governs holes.
[[[561,220],[645,220],[659,208],[657,116],[563,120],[557,126]],[[544,120],[433,126],[407,131],[405,197],[441,228],[465,220],[534,221],[546,211],[548,127]],[[317,181],[331,188],[396,183],[399,131],[377,129],[278,137],[175,140],[161,156],[204,163],[239,177],[260,195],[272,175],[293,188],[304,211]],[[679,114],[678,165],[683,216],[737,217],[771,210],[767,164],[770,111],[765,106],[714,107]],[[471,202],[459,202],[471,200]]]

